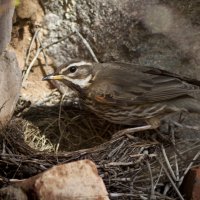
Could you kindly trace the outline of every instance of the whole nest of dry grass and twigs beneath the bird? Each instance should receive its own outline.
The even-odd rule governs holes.
[[[110,199],[182,198],[178,188],[200,164],[200,139],[177,138],[181,128],[113,137],[123,128],[80,109],[32,107],[1,130],[1,186],[56,164],[90,159]]]

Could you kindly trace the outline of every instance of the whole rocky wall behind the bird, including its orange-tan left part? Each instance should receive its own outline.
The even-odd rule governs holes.
[[[51,91],[41,81],[67,60],[93,60],[77,31],[86,39],[100,62],[123,61],[167,69],[200,79],[199,2],[164,0],[21,0],[16,9],[12,46],[21,69],[30,41],[36,34],[45,48],[35,60],[26,84],[24,98],[37,102]],[[20,37],[19,37],[20,36]],[[39,66],[39,67],[38,67]],[[32,73],[33,72],[33,73]],[[28,89],[27,89],[28,88]]]

